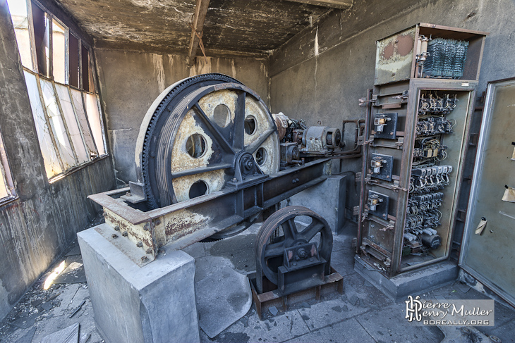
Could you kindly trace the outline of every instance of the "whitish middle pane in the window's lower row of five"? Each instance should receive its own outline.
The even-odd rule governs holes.
[[[66,120],[68,132],[70,132],[71,141],[73,142],[73,147],[75,148],[75,153],[77,154],[78,162],[83,163],[90,161],[90,156],[87,154],[83,137],[80,135],[77,118],[75,118],[75,111],[73,110],[73,104],[71,104],[68,87],[56,84],[56,90],[57,96],[59,96],[59,101],[61,102],[61,108],[63,109],[64,120]]]

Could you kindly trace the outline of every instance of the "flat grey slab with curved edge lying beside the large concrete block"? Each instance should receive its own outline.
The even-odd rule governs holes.
[[[210,338],[245,316],[252,306],[248,277],[229,266],[204,277],[195,287],[200,328]]]

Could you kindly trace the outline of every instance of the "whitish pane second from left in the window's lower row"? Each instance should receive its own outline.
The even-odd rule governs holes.
[[[54,87],[52,87],[52,82],[49,80],[40,79],[40,84],[47,116],[50,126],[52,127],[52,132],[54,132],[54,139],[59,149],[59,154],[61,154],[64,169],[67,170],[75,166],[76,161],[73,155],[73,149],[71,149],[70,140],[68,139],[68,134],[66,133],[66,128],[64,127],[61,111],[59,111],[59,106],[56,101]]]

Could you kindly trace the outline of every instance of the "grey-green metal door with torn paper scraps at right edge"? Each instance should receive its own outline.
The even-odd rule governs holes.
[[[515,80],[488,85],[460,266],[515,305]],[[509,200],[509,199],[508,199]],[[486,226],[476,234],[481,218]]]

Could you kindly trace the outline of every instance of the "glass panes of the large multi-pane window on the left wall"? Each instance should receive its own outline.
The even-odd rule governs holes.
[[[51,179],[107,154],[92,51],[36,1],[8,0],[8,6],[44,166]],[[5,167],[6,162],[2,163]],[[0,168],[0,200],[2,189],[13,189],[11,174],[4,176]]]

